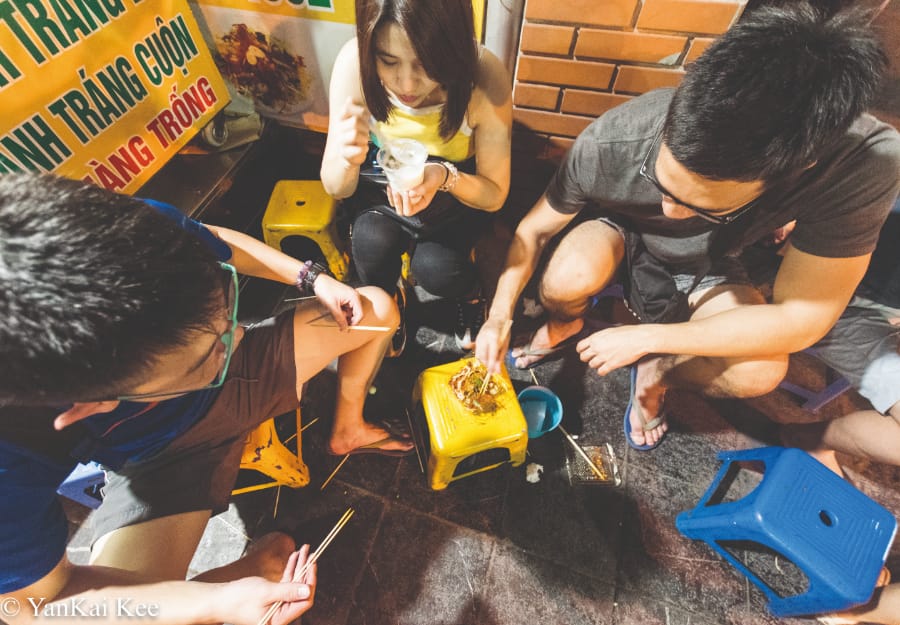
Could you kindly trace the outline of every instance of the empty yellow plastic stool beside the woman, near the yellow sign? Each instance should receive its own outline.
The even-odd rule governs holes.
[[[280,180],[263,215],[263,240],[280,250],[285,237],[306,237],[322,250],[334,277],[343,280],[347,255],[334,223],[336,207],[320,180]]]

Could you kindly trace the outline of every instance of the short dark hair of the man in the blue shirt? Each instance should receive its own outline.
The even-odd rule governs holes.
[[[51,175],[0,176],[0,403],[130,390],[221,306],[212,250],[144,202]]]

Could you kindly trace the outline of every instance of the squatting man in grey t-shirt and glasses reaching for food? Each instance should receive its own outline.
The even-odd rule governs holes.
[[[603,114],[519,224],[478,357],[499,368],[506,321],[565,229],[539,283],[549,319],[515,366],[570,345],[600,375],[631,366],[623,427],[641,450],[666,431],[668,388],[773,389],[841,315],[900,191],[900,138],[865,114],[885,65],[867,16],[786,3],[745,15],[677,89]],[[767,302],[737,255],[792,220]],[[588,302],[615,281],[642,323],[592,333]]]

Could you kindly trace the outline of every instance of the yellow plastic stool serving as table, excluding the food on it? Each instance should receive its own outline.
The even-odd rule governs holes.
[[[507,462],[525,462],[528,427],[505,367],[498,375],[506,390],[497,397],[495,412],[473,414],[450,389],[450,378],[469,360],[426,369],[416,380],[413,397],[428,425],[427,473],[433,490]]]

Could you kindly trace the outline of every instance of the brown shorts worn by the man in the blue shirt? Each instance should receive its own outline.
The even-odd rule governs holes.
[[[107,472],[95,541],[151,519],[228,507],[247,433],[299,405],[293,320],[289,310],[249,326],[206,415],[156,456]]]

